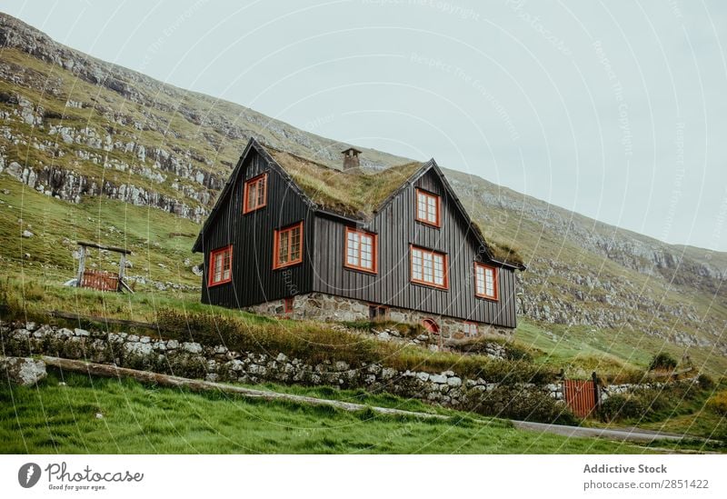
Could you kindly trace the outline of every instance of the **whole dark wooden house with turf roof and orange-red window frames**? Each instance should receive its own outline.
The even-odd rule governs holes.
[[[446,335],[515,327],[498,260],[434,160],[342,169],[250,140],[194,243],[202,301],[293,318],[419,322]]]

